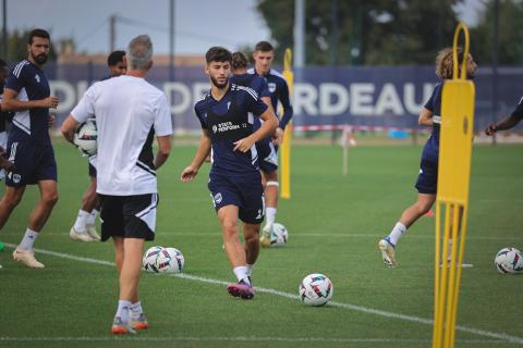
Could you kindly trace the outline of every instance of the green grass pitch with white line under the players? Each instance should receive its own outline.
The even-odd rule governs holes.
[[[414,202],[419,146],[360,146],[341,174],[339,147],[295,146],[292,198],[277,221],[284,247],[263,249],[252,301],[228,296],[234,276],[206,187],[208,165],[182,184],[195,147],[174,141],[159,170],[157,239],[185,257],[185,276],[144,273],[141,297],[150,328],[109,333],[118,300],[112,245],[69,238],[87,186],[87,160],[56,141],[60,200],[36,243],[45,270],[10,260],[38,196],[29,187],[0,233],[0,347],[429,347],[434,295],[434,217],[422,217],[387,269],[376,248]],[[501,275],[492,261],[507,246],[523,248],[523,146],[474,149],[470,224],[460,296],[457,347],[523,346],[523,275]],[[51,251],[51,252],[49,252]],[[46,253],[44,253],[46,252]],[[54,253],[52,253],[54,252]],[[81,259],[84,258],[84,259]],[[97,262],[105,261],[105,262]],[[332,303],[303,306],[301,279],[325,273]]]

